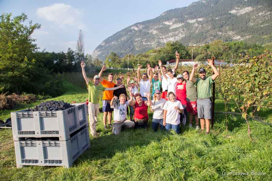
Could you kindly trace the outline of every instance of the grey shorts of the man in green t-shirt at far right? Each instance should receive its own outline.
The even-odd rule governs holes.
[[[209,99],[197,100],[198,118],[212,119],[212,101]]]

